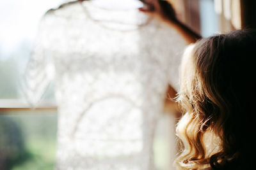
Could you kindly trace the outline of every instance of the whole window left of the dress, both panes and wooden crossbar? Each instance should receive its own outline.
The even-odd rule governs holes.
[[[22,74],[38,22],[61,1],[0,2],[0,169],[53,169],[57,114],[52,87],[36,110],[22,92]]]

